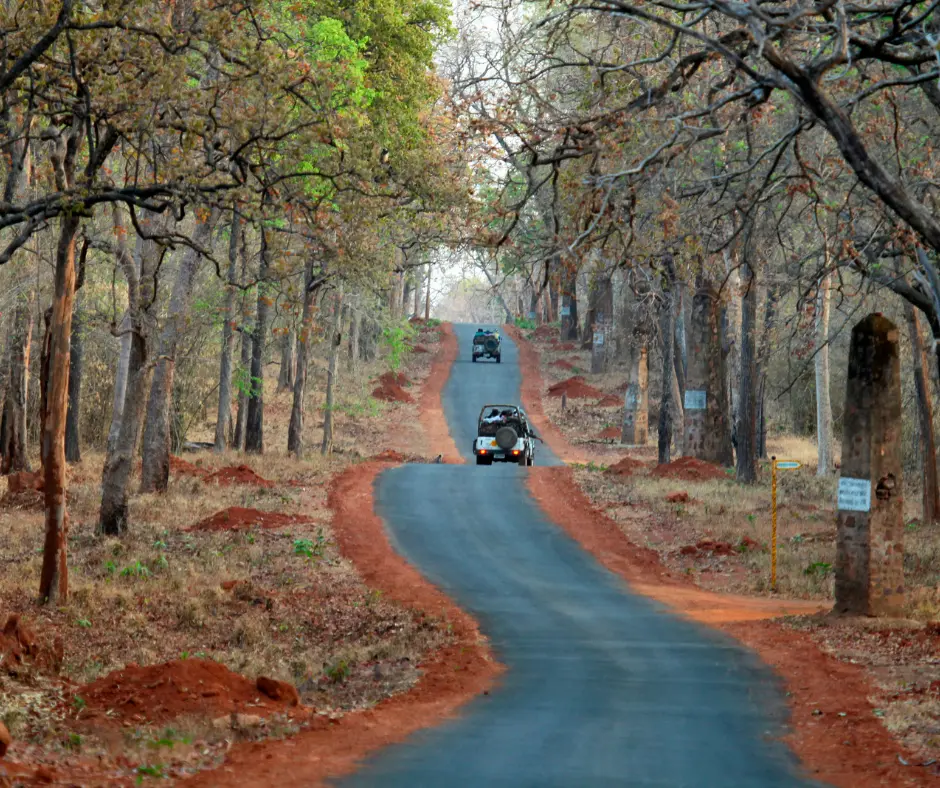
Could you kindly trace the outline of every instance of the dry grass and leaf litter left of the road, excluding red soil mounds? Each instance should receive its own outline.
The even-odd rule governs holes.
[[[421,341],[433,344],[434,337]],[[418,354],[407,360],[404,371],[416,386],[427,376],[431,358]],[[319,455],[322,421],[313,400],[322,392],[311,385],[316,392],[307,413],[311,450],[303,461],[284,452],[290,393],[269,394],[264,456],[205,452],[185,459],[208,471],[246,464],[273,481],[273,488],[218,486],[173,475],[167,493],[132,496],[131,527],[121,538],[95,533],[103,457],[86,455],[70,469],[71,594],[58,608],[35,601],[41,511],[0,508],[6,536],[0,543],[0,611],[19,613],[38,632],[62,638],[62,678],[71,683],[63,686],[35,672],[0,679],[0,719],[16,740],[12,757],[67,759],[80,749],[84,755],[121,752],[145,762],[153,756],[147,755],[148,743],[168,735],[180,742],[198,739],[205,750],[197,757],[188,745],[174,749],[170,760],[195,758],[187,768],[212,762],[221,754],[217,745],[224,751],[232,732],[217,731],[207,720],[177,721],[171,734],[128,729],[118,742],[103,733],[88,738],[70,732],[63,709],[80,685],[130,663],[205,656],[251,678],[290,681],[306,704],[324,713],[370,706],[414,684],[422,655],[446,642],[446,626],[368,588],[336,549],[326,507],[331,476],[350,462],[387,448],[421,448],[397,442],[408,437],[400,434],[401,406],[368,396],[371,379],[381,371],[377,365],[343,370],[331,457]],[[213,431],[207,424],[204,434],[190,437],[208,440]],[[309,522],[247,531],[186,530],[232,506],[303,515]],[[226,581],[238,582],[224,590]],[[273,719],[237,737],[283,735],[292,725]]]

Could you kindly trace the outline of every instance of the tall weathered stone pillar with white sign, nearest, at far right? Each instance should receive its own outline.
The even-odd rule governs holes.
[[[838,507],[834,612],[900,615],[901,363],[897,327],[880,313],[852,329]]]

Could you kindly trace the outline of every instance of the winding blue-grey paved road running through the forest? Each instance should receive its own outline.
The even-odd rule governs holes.
[[[445,389],[469,456],[487,401],[516,402],[516,350]],[[553,461],[543,453],[537,464]],[[777,737],[781,693],[750,654],[630,593],[547,522],[510,465],[411,465],[380,480],[396,548],[472,612],[509,670],[459,719],[382,751],[345,786],[808,785]],[[418,504],[420,502],[420,504]]]

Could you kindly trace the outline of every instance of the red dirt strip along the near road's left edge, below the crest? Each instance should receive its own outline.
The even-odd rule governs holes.
[[[369,753],[452,716],[487,692],[502,673],[476,622],[389,544],[373,507],[375,480],[388,467],[387,462],[365,462],[335,479],[329,495],[334,534],[366,583],[400,604],[446,619],[453,642],[420,666],[422,676],[410,692],[336,721],[321,718],[312,730],[289,739],[236,745],[221,767],[184,785],[321,785],[327,778],[352,772]]]

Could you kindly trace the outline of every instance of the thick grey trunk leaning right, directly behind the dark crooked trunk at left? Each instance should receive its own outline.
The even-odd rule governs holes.
[[[213,212],[206,221],[196,225],[193,234],[196,246],[209,245],[217,218]],[[159,358],[153,370],[153,382],[147,400],[147,420],[144,424],[141,492],[166,492],[170,481],[170,400],[176,372],[176,347],[192,302],[193,280],[200,262],[202,256],[192,247],[183,253],[170,296],[169,313],[160,333]]]

